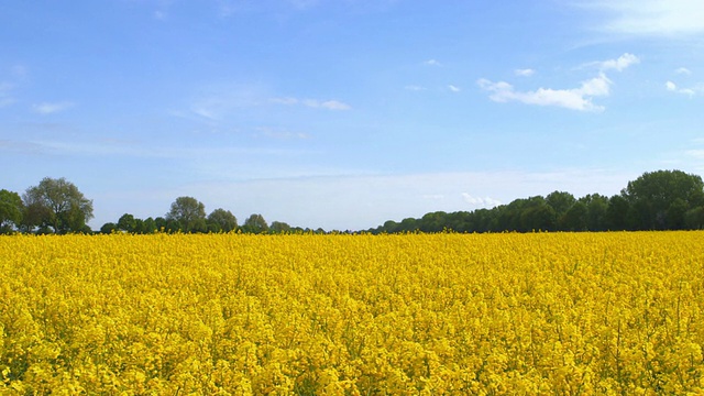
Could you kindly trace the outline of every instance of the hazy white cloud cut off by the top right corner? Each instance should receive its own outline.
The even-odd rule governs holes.
[[[704,33],[701,0],[598,0],[581,4],[608,13],[601,29],[610,33],[645,36]]]

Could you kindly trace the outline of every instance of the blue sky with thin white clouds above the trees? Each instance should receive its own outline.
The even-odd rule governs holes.
[[[0,188],[359,230],[704,174],[701,0],[0,2]]]

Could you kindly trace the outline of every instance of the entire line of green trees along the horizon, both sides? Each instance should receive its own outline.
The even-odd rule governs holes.
[[[65,178],[46,177],[22,196],[0,190],[0,233],[92,233],[92,200]],[[565,191],[520,198],[508,205],[474,211],[426,213],[419,219],[386,221],[370,233],[402,232],[503,232],[503,231],[637,231],[704,229],[704,182],[682,170],[645,173],[628,182],[620,194],[606,197],[590,194],[575,198]],[[163,217],[139,219],[124,213],[99,232],[326,232],[267,223],[262,215],[251,215],[242,226],[231,211],[218,208],[206,215],[202,202],[178,197]],[[348,231],[352,232],[352,231]]]

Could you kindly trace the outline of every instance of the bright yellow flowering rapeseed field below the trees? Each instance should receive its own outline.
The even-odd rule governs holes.
[[[0,238],[0,394],[704,393],[704,232]]]

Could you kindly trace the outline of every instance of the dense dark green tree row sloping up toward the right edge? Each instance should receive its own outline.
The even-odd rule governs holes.
[[[704,183],[681,170],[645,173],[620,194],[575,198],[565,191],[521,198],[474,211],[426,213],[386,221],[371,233],[700,230],[704,228]]]

